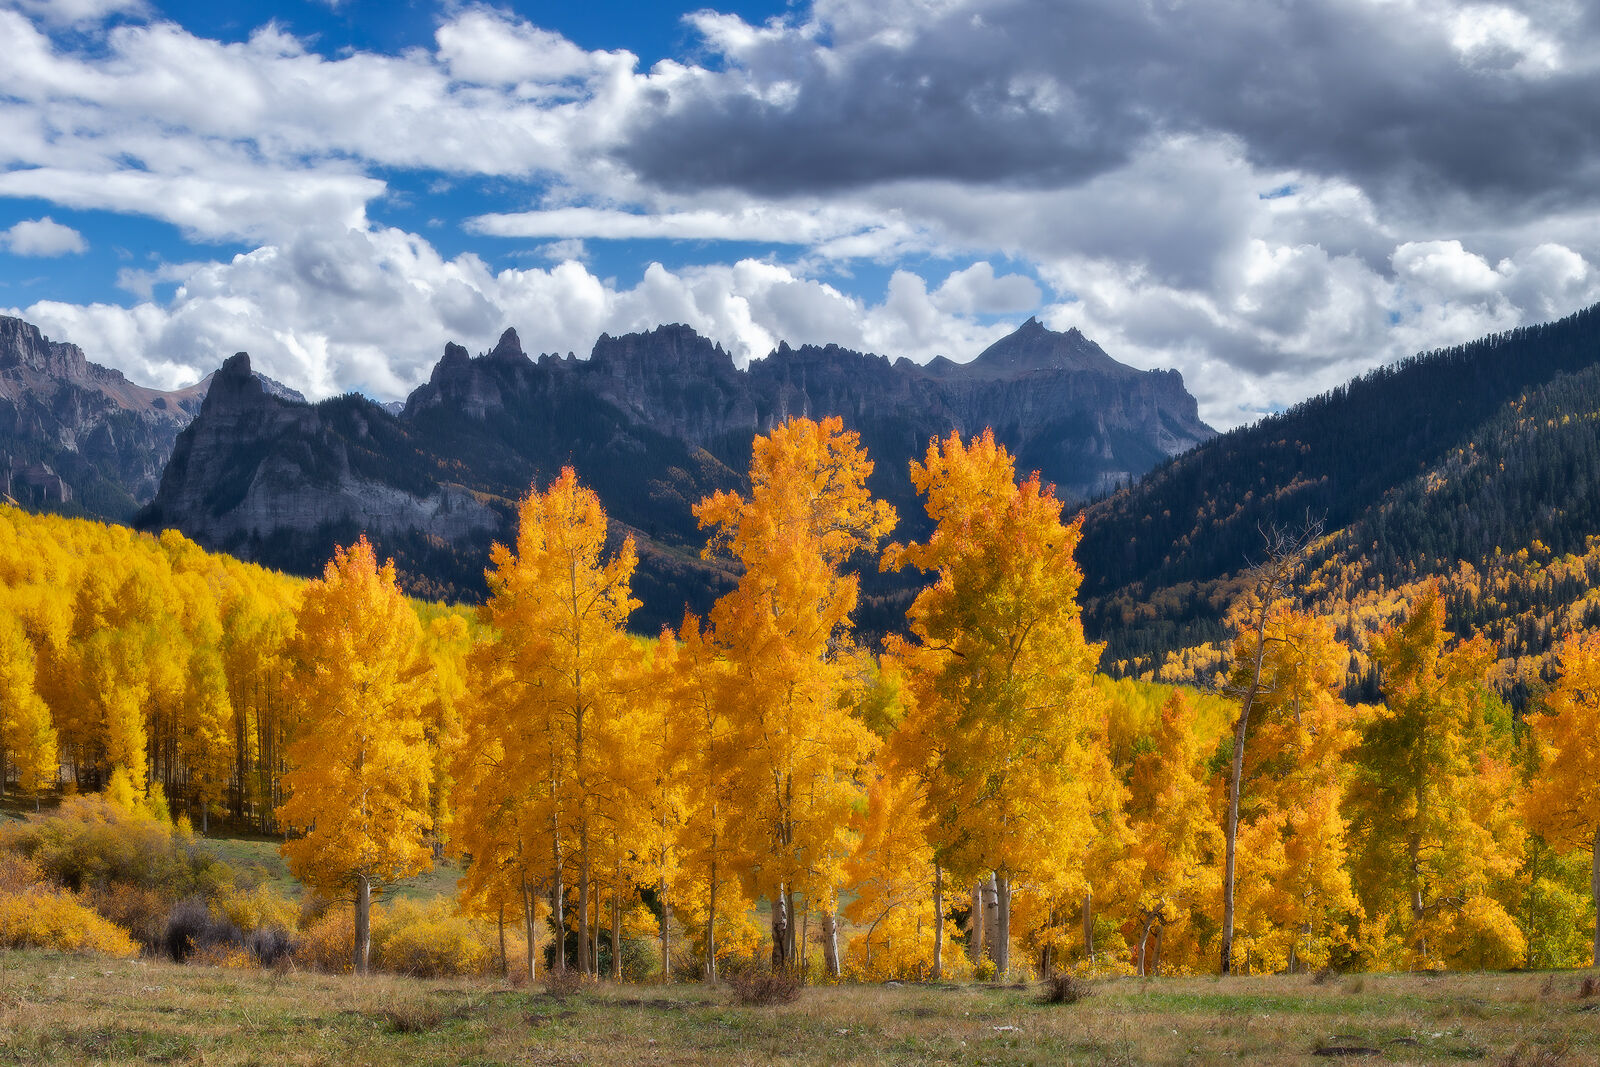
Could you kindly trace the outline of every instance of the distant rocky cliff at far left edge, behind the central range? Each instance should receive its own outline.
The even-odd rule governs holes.
[[[90,363],[75,344],[0,317],[0,496],[130,520],[155,496],[178,432],[200,411],[210,381],[146,389]]]

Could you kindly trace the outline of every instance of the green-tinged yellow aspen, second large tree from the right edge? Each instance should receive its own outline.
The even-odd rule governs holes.
[[[1483,638],[1451,643],[1429,587],[1378,637],[1373,659],[1384,704],[1352,750],[1346,816],[1363,909],[1400,920],[1374,936],[1398,937],[1413,966],[1443,966],[1467,918],[1504,933],[1514,963],[1526,945],[1488,896],[1515,877],[1523,837],[1509,803],[1510,717],[1483,681],[1494,651]]]

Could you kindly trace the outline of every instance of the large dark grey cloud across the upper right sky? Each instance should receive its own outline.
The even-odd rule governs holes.
[[[995,0],[886,5],[878,26],[851,13],[834,32],[819,5],[821,32],[736,43],[731,74],[656,94],[616,152],[667,189],[792,195],[1061,187],[1150,138],[1227,134],[1259,166],[1374,198],[1531,216],[1600,197],[1600,18],[1586,8]]]

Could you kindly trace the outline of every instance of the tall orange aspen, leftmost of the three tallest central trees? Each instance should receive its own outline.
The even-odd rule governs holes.
[[[514,547],[494,545],[483,622],[490,637],[472,653],[483,688],[472,701],[469,739],[499,742],[504,795],[517,811],[522,854],[549,849],[539,885],[549,891],[557,937],[565,936],[570,869],[578,878],[578,968],[595,969],[594,864],[602,822],[614,816],[627,769],[606,758],[619,745],[638,686],[640,653],[624,625],[638,606],[629,592],[637,555],[629,537],[606,558],[600,498],[571,467],[522,502]],[[469,797],[459,797],[461,819]],[[538,838],[534,837],[538,833]],[[530,897],[531,907],[531,897]],[[566,968],[565,945],[555,952]]]

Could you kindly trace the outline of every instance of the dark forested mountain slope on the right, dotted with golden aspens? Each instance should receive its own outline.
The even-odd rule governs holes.
[[[1374,370],[1091,506],[1078,555],[1106,665],[1206,680],[1262,530],[1307,518],[1325,536],[1302,598],[1344,640],[1437,581],[1448,625],[1490,637],[1523,685],[1600,622],[1600,307]],[[1358,654],[1352,688],[1374,685]]]

